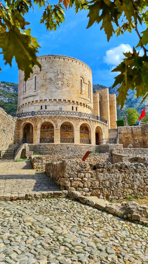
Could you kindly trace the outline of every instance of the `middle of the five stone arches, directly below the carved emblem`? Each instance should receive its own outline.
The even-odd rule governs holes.
[[[60,142],[61,143],[74,143],[75,126],[72,121],[62,120],[60,122]]]

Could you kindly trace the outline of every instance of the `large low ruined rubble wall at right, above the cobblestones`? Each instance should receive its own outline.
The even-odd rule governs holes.
[[[63,160],[49,162],[45,171],[60,187],[78,190],[84,195],[123,199],[129,194],[148,196],[148,163],[99,162],[91,169],[89,162]]]

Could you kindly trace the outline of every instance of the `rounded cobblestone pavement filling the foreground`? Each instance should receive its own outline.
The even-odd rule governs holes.
[[[0,264],[146,264],[147,232],[73,199],[0,202]]]

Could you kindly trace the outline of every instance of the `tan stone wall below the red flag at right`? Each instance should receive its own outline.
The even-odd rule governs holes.
[[[148,124],[118,127],[118,135],[124,148],[130,147],[130,144],[134,148],[148,147]]]

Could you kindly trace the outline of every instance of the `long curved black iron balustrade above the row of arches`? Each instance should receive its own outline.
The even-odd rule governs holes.
[[[101,121],[105,124],[107,124],[107,120],[105,120],[104,118],[97,116],[97,115],[93,115],[93,114],[86,114],[86,113],[81,113],[81,112],[75,112],[75,111],[63,111],[63,110],[49,110],[49,111],[32,111],[32,112],[24,112],[24,113],[20,113],[20,114],[15,114],[15,117],[17,118],[21,118],[21,117],[28,117],[28,116],[53,116],[53,115],[60,115],[60,116],[78,116],[78,117],[86,117],[88,119],[96,119],[98,121]]]

